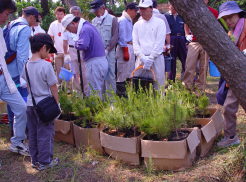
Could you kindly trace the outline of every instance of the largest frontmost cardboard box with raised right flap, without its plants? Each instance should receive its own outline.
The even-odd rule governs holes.
[[[189,136],[181,141],[141,140],[142,157],[146,165],[159,170],[182,170],[192,166],[196,148],[200,144],[198,128],[191,129]]]

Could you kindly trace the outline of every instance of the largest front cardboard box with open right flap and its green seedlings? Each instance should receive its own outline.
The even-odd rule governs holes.
[[[140,122],[146,136],[141,140],[142,157],[156,169],[179,170],[191,167],[199,144],[197,128],[181,129],[189,116],[189,108],[182,97],[171,90],[166,97],[156,101],[158,107],[152,119]]]

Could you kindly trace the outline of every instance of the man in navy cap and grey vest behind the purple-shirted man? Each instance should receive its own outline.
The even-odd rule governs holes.
[[[92,20],[92,24],[99,31],[103,43],[106,58],[108,60],[108,74],[105,81],[105,89],[116,91],[115,78],[115,48],[119,39],[119,28],[117,18],[110,15],[106,10],[103,0],[94,0],[90,3],[91,12],[96,17]]]

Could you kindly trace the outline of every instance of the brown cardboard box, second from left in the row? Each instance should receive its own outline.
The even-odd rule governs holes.
[[[99,153],[103,153],[100,141],[99,128],[82,128],[73,124],[74,140],[77,148],[91,147]]]

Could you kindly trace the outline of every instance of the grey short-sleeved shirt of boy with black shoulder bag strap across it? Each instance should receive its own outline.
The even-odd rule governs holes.
[[[51,63],[41,59],[38,61],[28,61],[27,71],[30,78],[30,84],[36,104],[44,98],[51,96],[50,87],[57,84],[57,77]],[[22,73],[22,78],[27,81],[26,70]],[[32,97],[28,84],[27,106],[33,106]]]

